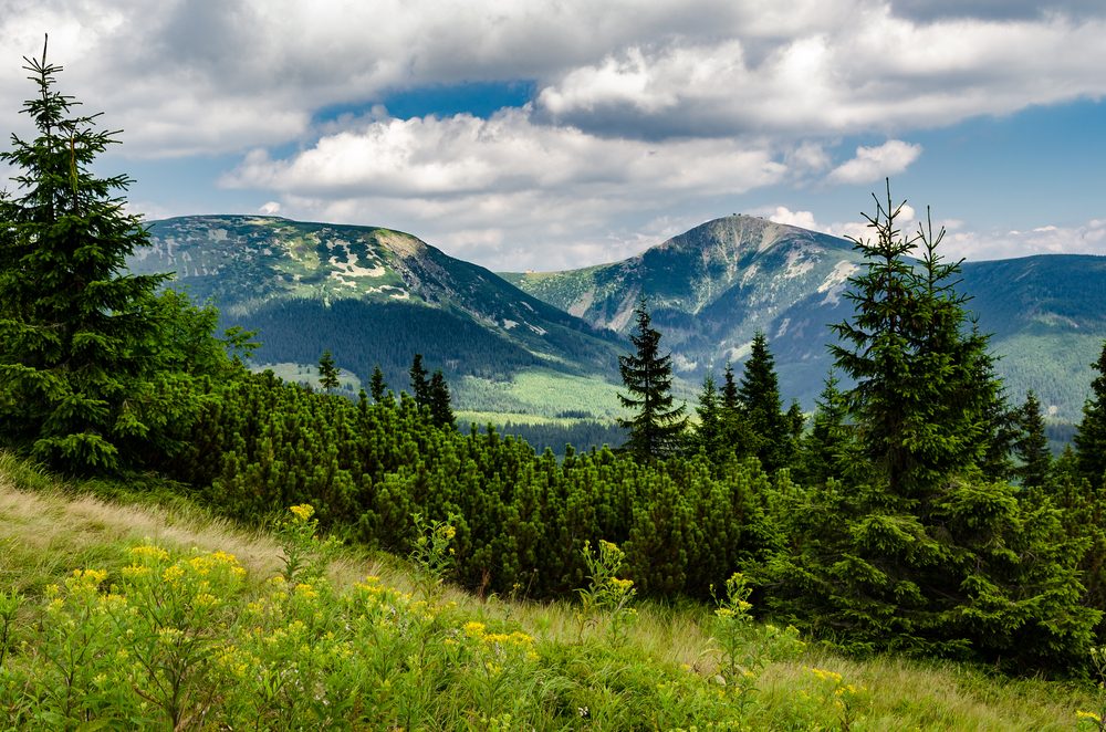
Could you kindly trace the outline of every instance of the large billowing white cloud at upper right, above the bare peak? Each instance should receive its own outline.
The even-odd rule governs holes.
[[[791,33],[771,41],[739,32],[618,49],[554,79],[538,102],[585,128],[625,129],[633,119],[647,136],[837,135],[1106,93],[1102,13],[918,20],[881,3],[849,4],[807,32],[783,23]]]

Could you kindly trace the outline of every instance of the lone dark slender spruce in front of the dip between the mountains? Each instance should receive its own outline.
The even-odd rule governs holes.
[[[618,419],[629,430],[623,449],[638,459],[662,458],[682,445],[687,429],[684,405],[672,406],[671,354],[660,354],[660,332],[651,326],[643,299],[634,310],[637,331],[630,335],[636,352],[618,357],[618,370],[629,395],[618,395],[623,407],[635,409],[630,419]]]

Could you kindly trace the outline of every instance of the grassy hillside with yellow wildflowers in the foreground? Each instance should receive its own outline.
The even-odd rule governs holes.
[[[408,563],[313,538],[302,509],[258,534],[135,495],[0,453],[12,729],[1070,730],[1098,702],[963,666],[846,660],[740,603],[635,607],[614,581],[589,608],[463,595],[436,581],[446,526]]]

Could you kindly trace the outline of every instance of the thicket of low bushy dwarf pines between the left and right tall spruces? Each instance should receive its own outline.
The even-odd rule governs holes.
[[[584,578],[584,542],[607,538],[625,544],[641,593],[706,596],[778,541],[764,525],[769,482],[753,466],[637,464],[609,450],[559,462],[494,429],[438,428],[409,398],[353,404],[271,374],[221,388],[190,449],[206,458],[175,462],[175,474],[209,487],[205,500],[237,519],[310,503],[321,526],[403,554],[411,514],[448,521],[451,579],[481,592],[570,593]]]

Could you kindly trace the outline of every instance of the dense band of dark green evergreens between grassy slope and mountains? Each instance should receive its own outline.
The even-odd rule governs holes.
[[[428,373],[446,354],[413,363],[409,386],[379,372],[356,402],[325,367],[320,388],[251,374],[252,334],[219,336],[212,309],[125,271],[147,234],[126,177],[92,170],[113,138],[44,55],[29,71],[38,135],[0,154],[17,170],[0,199],[4,447],[72,474],[156,471],[246,522],[310,503],[336,536],[397,553],[416,515],[445,521],[452,579],[481,593],[571,594],[585,542],[605,540],[644,595],[707,598],[741,571],[760,611],[857,652],[1078,672],[1106,637],[1106,348],[1053,461],[1032,395],[1005,401],[941,232],[900,232],[889,192],[856,242],[855,314],[834,326],[855,386],[828,375],[811,423],[784,407],[761,334],[740,374],[708,377],[692,426],[643,302],[625,446],[559,460],[458,430]]]

